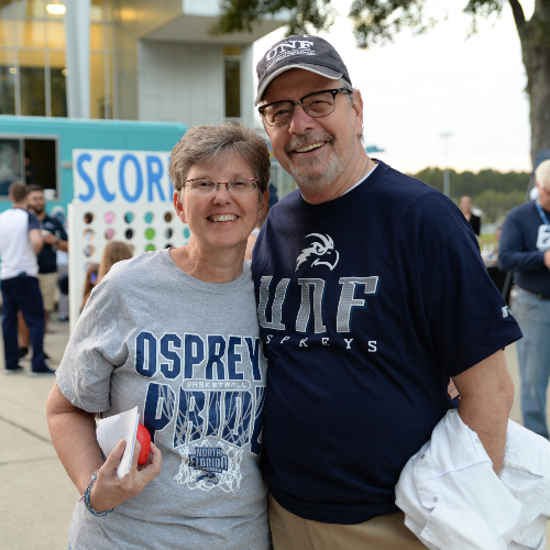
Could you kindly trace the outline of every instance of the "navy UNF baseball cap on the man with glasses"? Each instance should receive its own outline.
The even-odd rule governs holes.
[[[310,70],[331,80],[341,78],[344,87],[353,90],[348,68],[338,52],[320,36],[300,34],[279,40],[257,63],[257,96],[254,106],[260,103],[270,82],[292,68]]]

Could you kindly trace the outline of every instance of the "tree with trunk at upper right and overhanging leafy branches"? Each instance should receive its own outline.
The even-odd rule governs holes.
[[[426,0],[353,0],[350,18],[360,47],[391,41],[403,28],[416,33],[435,24],[424,10]],[[536,0],[529,21],[520,0],[463,0],[464,12],[472,15],[472,30],[476,31],[480,16],[499,14],[509,3],[521,44],[527,73],[527,92],[530,103],[531,160],[550,148],[550,0]],[[327,31],[334,21],[332,0],[222,0],[222,15],[217,32],[251,31],[257,19],[292,10],[287,34]],[[336,2],[336,0],[334,0]]]

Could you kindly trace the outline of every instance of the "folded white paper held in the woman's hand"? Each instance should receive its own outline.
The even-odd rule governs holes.
[[[117,477],[122,480],[124,475],[130,473],[132,466],[132,457],[134,453],[135,437],[138,435],[138,424],[140,415],[138,407],[120,413],[119,415],[102,418],[98,422],[96,437],[98,438],[99,447],[106,457],[111,454],[111,451],[117,447],[121,439],[125,440],[127,447],[124,454],[117,468]]]

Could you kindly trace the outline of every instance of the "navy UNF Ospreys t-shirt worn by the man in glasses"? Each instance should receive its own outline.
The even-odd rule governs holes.
[[[329,202],[282,200],[252,265],[273,496],[326,522],[397,512],[402,469],[450,408],[449,377],[521,337],[464,216],[378,163]]]

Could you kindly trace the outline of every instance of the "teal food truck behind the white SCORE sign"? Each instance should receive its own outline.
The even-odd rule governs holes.
[[[48,210],[62,206],[66,212],[75,196],[74,150],[169,153],[186,130],[179,123],[0,116],[0,212],[10,206],[8,188],[12,182],[41,185]],[[86,162],[81,172],[86,173]],[[145,166],[142,174],[143,191],[155,185],[157,172],[158,162],[150,158],[148,169]],[[94,182],[95,176],[89,179]],[[108,185],[96,190],[112,196]]]

